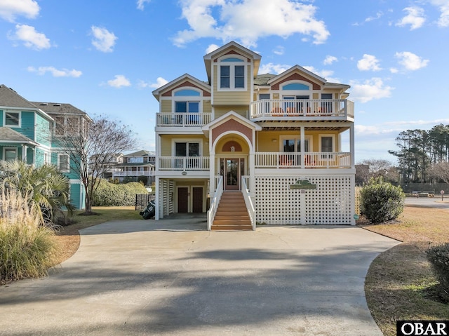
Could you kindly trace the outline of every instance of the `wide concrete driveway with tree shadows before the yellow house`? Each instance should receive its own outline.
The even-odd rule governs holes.
[[[382,335],[363,290],[398,242],[358,227],[107,222],[50,276],[0,287],[0,335]]]

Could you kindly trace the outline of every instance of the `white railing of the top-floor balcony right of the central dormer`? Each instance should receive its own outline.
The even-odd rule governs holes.
[[[251,119],[305,116],[354,117],[354,102],[346,99],[262,99],[251,102]]]

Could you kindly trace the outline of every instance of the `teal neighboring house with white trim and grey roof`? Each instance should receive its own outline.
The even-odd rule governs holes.
[[[52,163],[69,178],[70,199],[75,208],[84,208],[84,189],[58,135],[65,126],[77,125],[87,131],[91,118],[70,104],[29,102],[15,90],[0,85],[0,160],[22,160],[34,166]]]

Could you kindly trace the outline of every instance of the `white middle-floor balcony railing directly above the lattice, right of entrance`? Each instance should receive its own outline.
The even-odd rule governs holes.
[[[349,152],[255,153],[255,168],[351,168]]]

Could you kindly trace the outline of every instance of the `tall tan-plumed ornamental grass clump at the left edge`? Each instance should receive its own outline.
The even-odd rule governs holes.
[[[0,193],[0,283],[47,274],[56,264],[55,232],[14,189]]]

